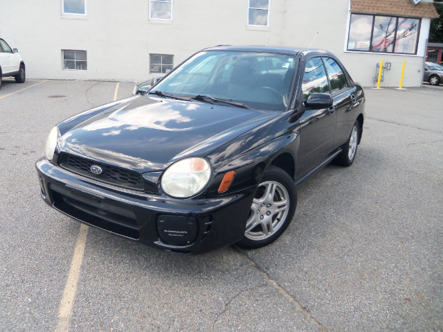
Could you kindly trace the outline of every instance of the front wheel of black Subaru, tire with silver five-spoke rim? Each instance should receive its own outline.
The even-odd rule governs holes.
[[[257,186],[244,237],[236,244],[245,249],[269,245],[291,223],[296,204],[296,188],[291,177],[281,168],[270,166]]]

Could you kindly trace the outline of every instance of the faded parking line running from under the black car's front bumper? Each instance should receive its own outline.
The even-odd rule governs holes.
[[[74,256],[69,269],[68,280],[64,286],[62,302],[60,303],[58,313],[58,324],[55,332],[69,331],[69,321],[72,316],[72,309],[74,304],[75,292],[78,286],[78,279],[80,276],[80,268],[82,267],[84,246],[86,245],[89,227],[87,225],[80,225],[80,232],[78,234],[77,243],[75,243]]]

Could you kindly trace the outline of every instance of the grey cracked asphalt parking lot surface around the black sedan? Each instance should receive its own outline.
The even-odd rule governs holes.
[[[365,89],[350,168],[298,186],[260,250],[168,254],[81,226],[39,197],[55,123],[132,83],[3,80],[0,331],[443,331],[443,90]]]

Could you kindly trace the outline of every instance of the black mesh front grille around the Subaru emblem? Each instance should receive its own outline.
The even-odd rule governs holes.
[[[91,166],[100,166],[102,173],[94,174],[91,172]],[[143,191],[143,177],[140,173],[130,171],[125,168],[111,166],[108,164],[99,163],[91,159],[70,155],[69,153],[62,153],[60,155],[60,167],[89,177],[101,182],[107,182],[116,186],[122,186],[127,189],[135,189]]]

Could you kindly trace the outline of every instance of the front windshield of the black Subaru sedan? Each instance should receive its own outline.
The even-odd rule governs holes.
[[[257,110],[284,111],[296,62],[291,55],[275,53],[204,51],[175,69],[153,91],[181,97],[210,96]]]

